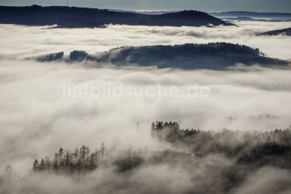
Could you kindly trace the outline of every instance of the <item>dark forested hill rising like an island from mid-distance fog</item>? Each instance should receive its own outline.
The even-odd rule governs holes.
[[[116,65],[137,64],[158,68],[222,69],[235,63],[245,65],[284,65],[286,61],[264,57],[258,48],[232,43],[208,43],[183,45],[152,45],[119,47],[107,52],[88,55],[84,51],[73,51],[70,60],[110,62]]]

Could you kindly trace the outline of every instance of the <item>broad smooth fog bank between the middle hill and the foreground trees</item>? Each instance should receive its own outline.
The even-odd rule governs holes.
[[[181,128],[217,130],[274,130],[290,124],[290,70],[245,67],[246,71],[171,70],[156,68],[87,68],[79,64],[1,61],[1,164],[19,172],[31,165],[32,155],[53,153],[58,147],[84,144],[98,147],[162,149],[150,139],[150,123],[178,121]],[[241,68],[240,68],[241,69]],[[179,87],[198,83],[211,89],[203,97],[63,97],[63,83],[78,86]],[[258,114],[283,115],[272,119],[228,117]],[[136,122],[140,124],[139,134]],[[138,138],[137,138],[138,137]],[[139,138],[140,137],[140,138]],[[64,141],[65,140],[65,141]],[[153,146],[156,145],[156,146]],[[18,166],[19,165],[19,166]]]

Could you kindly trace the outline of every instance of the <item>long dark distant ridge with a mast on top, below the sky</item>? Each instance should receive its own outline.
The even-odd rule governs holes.
[[[208,24],[233,25],[207,13],[188,10],[177,13],[149,15],[129,12],[115,12],[106,9],[67,6],[0,6],[0,23],[22,25],[82,24],[128,24],[149,26],[204,26]],[[86,23],[84,24],[86,27]]]

